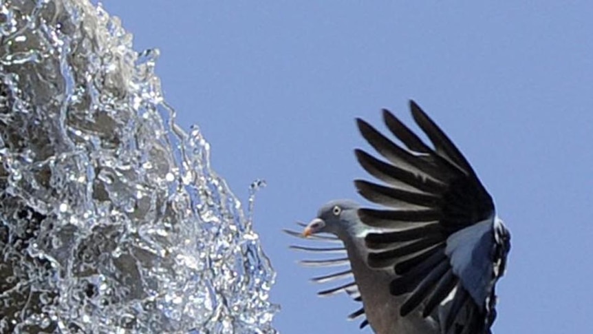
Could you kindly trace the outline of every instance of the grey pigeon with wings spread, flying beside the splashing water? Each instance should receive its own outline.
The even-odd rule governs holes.
[[[360,134],[382,159],[356,149],[360,166],[380,183],[355,180],[354,185],[358,194],[380,207],[333,200],[310,223],[299,222],[302,233],[285,231],[338,243],[292,248],[345,253],[343,258],[301,264],[349,266],[313,280],[351,279],[319,294],[345,292],[362,302],[348,316],[365,317],[360,328],[370,325],[379,334],[491,333],[495,284],[506,271],[510,232],[459,149],[414,101],[410,109],[433,147],[387,109],[385,125],[399,143],[356,120]]]

